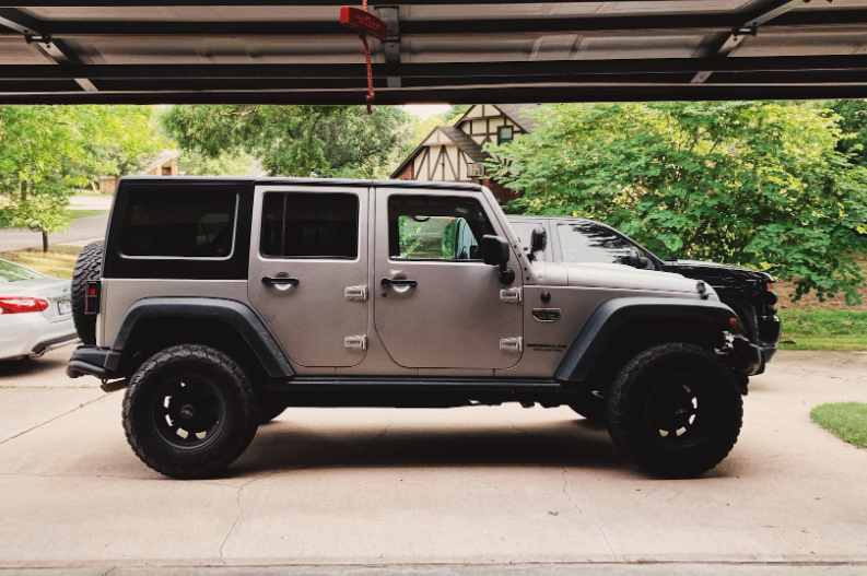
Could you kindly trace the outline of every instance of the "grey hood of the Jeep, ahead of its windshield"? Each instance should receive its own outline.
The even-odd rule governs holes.
[[[534,262],[534,271],[540,285],[698,293],[695,280],[622,265]],[[707,286],[707,292],[716,299],[712,287]]]

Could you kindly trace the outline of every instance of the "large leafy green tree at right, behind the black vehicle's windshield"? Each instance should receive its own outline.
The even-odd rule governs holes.
[[[513,212],[606,222],[664,258],[747,265],[859,302],[867,171],[839,117],[796,103],[563,104],[489,148]]]

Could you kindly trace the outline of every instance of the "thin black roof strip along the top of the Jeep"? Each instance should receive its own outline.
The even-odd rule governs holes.
[[[120,183],[147,183],[148,185],[177,185],[178,183],[206,184],[250,184],[260,185],[304,185],[304,186],[344,186],[344,187],[368,187],[377,188],[426,188],[441,190],[461,190],[481,191],[482,187],[470,183],[443,183],[443,181],[418,181],[418,180],[374,180],[374,179],[350,179],[350,178],[284,178],[284,177],[238,177],[238,176],[126,176]]]

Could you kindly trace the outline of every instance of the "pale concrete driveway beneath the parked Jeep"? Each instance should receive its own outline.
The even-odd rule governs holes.
[[[867,571],[851,565],[867,563],[867,451],[809,420],[819,403],[867,401],[864,353],[781,352],[753,380],[731,456],[688,481],[648,477],[567,409],[514,405],[293,409],[259,430],[225,478],[169,480],[127,446],[122,392],[66,379],[68,355],[0,366],[0,386],[19,386],[0,388],[0,567]],[[430,569],[415,573],[458,574]],[[370,574],[396,573],[383,571]]]

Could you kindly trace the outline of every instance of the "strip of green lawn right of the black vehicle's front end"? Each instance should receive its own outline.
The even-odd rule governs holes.
[[[867,311],[783,310],[783,350],[867,351]]]

